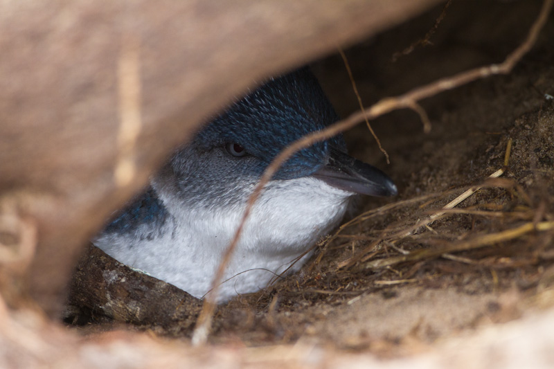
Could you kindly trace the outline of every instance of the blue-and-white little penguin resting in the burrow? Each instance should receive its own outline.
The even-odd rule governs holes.
[[[307,67],[271,78],[179,147],[93,244],[129,267],[206,296],[267,165],[287,145],[338,119]],[[217,303],[298,271],[310,253],[296,259],[339,224],[354,195],[396,193],[386,174],[346,154],[341,135],[296,152],[254,204]]]

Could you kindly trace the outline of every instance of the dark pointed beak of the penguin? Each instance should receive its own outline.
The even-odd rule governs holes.
[[[312,176],[332,187],[360,195],[395,196],[398,193],[392,179],[384,172],[332,147],[328,163]]]

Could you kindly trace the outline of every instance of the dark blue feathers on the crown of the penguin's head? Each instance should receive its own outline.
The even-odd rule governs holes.
[[[215,118],[195,138],[209,149],[226,142],[239,143],[260,159],[255,173],[261,175],[287,145],[338,120],[316,78],[307,68],[269,80]],[[292,179],[312,174],[325,164],[328,145],[345,150],[341,135],[315,143],[294,154],[274,176]]]

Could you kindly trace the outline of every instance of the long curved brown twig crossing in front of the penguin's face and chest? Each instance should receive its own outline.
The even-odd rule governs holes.
[[[252,194],[247,201],[247,205],[244,209],[241,222],[237,228],[237,231],[235,232],[235,236],[227,247],[222,261],[220,262],[220,266],[217,268],[217,272],[215,273],[215,276],[213,278],[212,298],[204,301],[204,307],[202,309],[202,312],[200,313],[195,331],[193,333],[193,344],[203,344],[206,343],[208,339],[208,333],[211,327],[213,312],[215,310],[215,303],[212,302],[212,299],[215,300],[215,297],[217,296],[217,286],[220,285],[220,280],[223,277],[225,268],[227,264],[229,264],[229,260],[231,260],[231,255],[233,254],[233,251],[235,251],[235,247],[238,244],[242,229],[244,228],[244,223],[249,218],[251,209],[256,202],[256,199],[258,199],[258,197],[260,196],[260,193],[265,188],[267,182],[269,182],[278,168],[280,168],[280,165],[282,165],[285,161],[287,161],[287,159],[289,159],[294,153],[298,152],[299,150],[310,147],[316,142],[325,141],[333,136],[336,136],[340,132],[354,127],[359,122],[363,121],[366,117],[368,119],[375,119],[377,116],[382,116],[393,110],[402,108],[413,108],[414,104],[419,100],[429,98],[430,96],[435,96],[440,92],[454,89],[455,87],[459,87],[463,84],[467,84],[474,80],[486,78],[491,75],[510,73],[515,64],[519,62],[519,60],[521,60],[521,57],[523,57],[535,44],[537,36],[539,35],[539,31],[546,23],[546,19],[548,18],[548,14],[552,8],[553,1],[554,0],[544,0],[542,9],[539,12],[539,16],[535,20],[533,26],[531,26],[525,41],[520,46],[518,46],[515,51],[510,53],[510,55],[506,57],[506,60],[504,60],[504,62],[502,62],[501,64],[490,64],[488,66],[470,69],[470,71],[458,73],[456,75],[453,75],[452,77],[441,78],[436,82],[418,87],[407,93],[404,93],[403,95],[393,98],[384,98],[382,100],[379,100],[379,102],[375,103],[375,105],[372,105],[368,109],[358,111],[357,113],[352,114],[350,117],[334,123],[326,129],[323,129],[322,131],[307,134],[306,136],[299,138],[297,141],[294,141],[294,143],[292,143],[288,147],[285,147],[285,150],[280,152],[280,154],[278,154],[271,162],[271,164],[269,164],[269,166],[266,168],[264,174],[262,174],[262,177],[258,182],[258,185],[256,186],[256,188],[254,188]]]

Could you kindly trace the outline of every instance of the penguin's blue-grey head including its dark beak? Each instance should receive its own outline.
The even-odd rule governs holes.
[[[194,201],[244,200],[279,152],[338,119],[307,68],[273,78],[208,123],[191,143],[172,157],[157,182],[161,183],[159,186],[171,186],[182,197]],[[335,160],[337,155],[343,159]],[[346,155],[346,144],[343,137],[337,135],[296,152],[283,163],[272,180],[315,175],[331,186],[350,192],[395,194],[395,187],[385,174],[352,158],[352,163],[357,163],[354,166],[366,170],[361,177],[373,176],[372,180],[381,182],[377,184],[384,190],[364,190],[365,183],[342,186],[352,177],[351,168],[343,168],[344,165],[352,166],[345,157],[350,158]],[[330,164],[336,166],[337,163],[341,163],[341,168],[328,170]],[[357,177],[355,181],[361,178]]]

